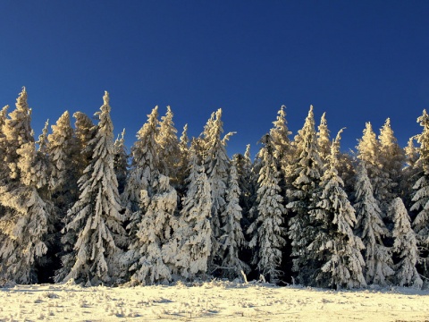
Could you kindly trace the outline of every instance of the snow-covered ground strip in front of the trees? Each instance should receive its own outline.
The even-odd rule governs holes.
[[[428,321],[429,291],[332,291],[213,281],[194,286],[17,285],[0,321]]]

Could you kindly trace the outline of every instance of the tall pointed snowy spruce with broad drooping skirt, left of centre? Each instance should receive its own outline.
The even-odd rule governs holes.
[[[118,182],[114,174],[114,127],[110,118],[109,94],[96,113],[97,130],[88,144],[93,155],[80,177],[80,196],[67,213],[63,242],[74,242],[71,254],[57,280],[74,279],[87,284],[113,284],[121,276],[117,258],[122,253],[125,231]],[[70,240],[71,238],[71,240]]]

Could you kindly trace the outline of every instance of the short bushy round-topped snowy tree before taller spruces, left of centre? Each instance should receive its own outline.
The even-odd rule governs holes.
[[[163,174],[153,178],[147,188],[150,189],[140,191],[140,210],[131,216],[131,220],[138,223],[136,236],[131,236],[133,240],[126,254],[132,284],[162,283],[172,278],[163,257],[163,246],[172,237],[177,193]]]

